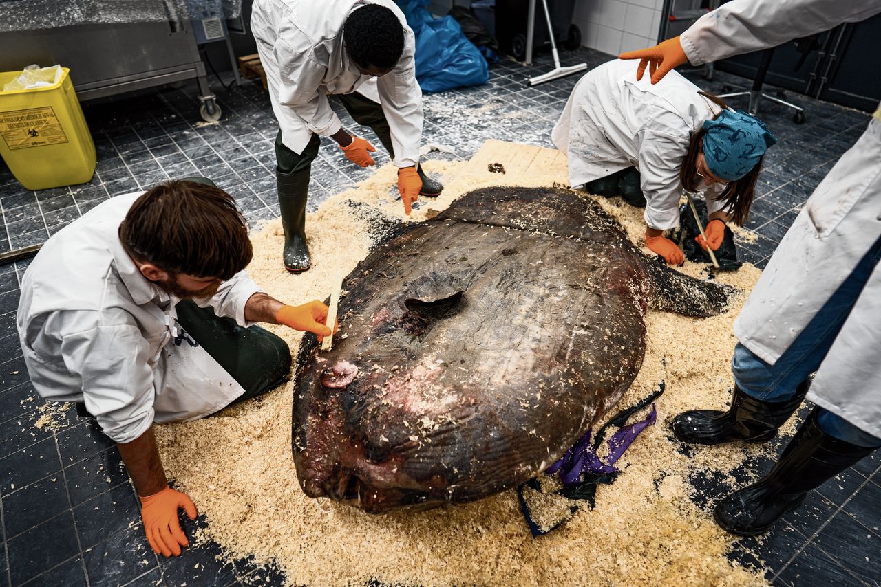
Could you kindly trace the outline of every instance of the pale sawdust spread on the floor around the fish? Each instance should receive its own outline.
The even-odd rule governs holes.
[[[537,148],[536,148],[537,149]],[[483,150],[482,150],[483,151]],[[501,152],[501,151],[499,151]],[[487,172],[492,149],[470,164],[429,161],[446,189],[420,201],[411,221],[443,209],[460,194],[490,185],[549,186],[566,180],[565,159],[537,150],[530,165]],[[337,194],[307,217],[313,267],[289,275],[281,263],[282,231],[270,222],[253,235],[249,268],[270,295],[297,304],[324,298],[368,250],[364,219],[345,200],[403,217],[395,200],[395,170],[379,169],[357,189]],[[598,198],[639,242],[641,210]],[[641,243],[640,243],[641,244]],[[704,266],[687,263],[701,277]],[[759,270],[744,266],[718,279],[749,291]],[[158,427],[169,476],[209,518],[207,535],[232,557],[275,562],[292,584],[689,584],[748,585],[764,580],[732,566],[731,537],[689,498],[694,471],[730,475],[759,448],[732,444],[694,449],[686,457],[671,440],[673,415],[694,407],[723,407],[729,399],[732,322],[743,304],[710,319],[650,312],[648,350],[638,378],[618,407],[633,405],[666,382],[658,422],[618,461],[624,473],[597,490],[596,510],[582,508],[566,525],[532,539],[514,491],[477,503],[422,513],[370,516],[300,491],[291,452],[292,384],[198,422]],[[270,327],[297,348],[300,334]],[[559,504],[557,504],[559,505]]]

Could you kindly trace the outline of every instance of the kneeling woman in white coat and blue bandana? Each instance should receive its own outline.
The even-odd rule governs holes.
[[[725,223],[749,215],[762,158],[777,142],[766,126],[671,71],[651,84],[621,60],[590,70],[575,85],[553,128],[566,152],[569,182],[591,194],[620,194],[645,207],[646,246],[670,265],[682,250],[663,232],[679,225],[683,190],[707,195],[707,242],[716,250]]]

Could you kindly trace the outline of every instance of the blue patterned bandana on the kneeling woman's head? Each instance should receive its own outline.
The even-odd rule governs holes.
[[[777,142],[758,118],[743,110],[723,110],[714,121],[705,121],[704,158],[707,168],[721,180],[736,181],[751,172]]]

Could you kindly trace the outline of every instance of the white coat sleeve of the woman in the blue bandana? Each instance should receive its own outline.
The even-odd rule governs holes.
[[[643,131],[640,142],[640,187],[646,196],[646,224],[659,231],[679,225],[679,168],[687,143],[682,138],[652,130]],[[686,139],[687,140],[687,139]]]

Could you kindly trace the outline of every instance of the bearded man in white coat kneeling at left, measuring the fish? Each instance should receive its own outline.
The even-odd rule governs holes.
[[[284,305],[243,270],[248,225],[203,179],[104,202],[49,238],[21,283],[27,370],[47,400],[78,402],[115,440],[157,553],[187,546],[189,497],[168,487],[153,422],[185,422],[270,391],[287,343],[255,322],[319,336],[327,307]]]

